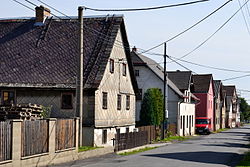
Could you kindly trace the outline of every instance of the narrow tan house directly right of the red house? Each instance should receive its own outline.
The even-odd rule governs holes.
[[[214,129],[225,128],[226,102],[221,80],[214,80]]]

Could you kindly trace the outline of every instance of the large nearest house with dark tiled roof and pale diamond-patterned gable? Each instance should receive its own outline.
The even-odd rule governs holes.
[[[40,104],[56,118],[78,116],[78,19],[49,16],[44,7],[36,14],[0,20],[0,102]],[[135,127],[137,83],[124,18],[85,17],[83,31],[83,143],[113,145],[116,132]]]

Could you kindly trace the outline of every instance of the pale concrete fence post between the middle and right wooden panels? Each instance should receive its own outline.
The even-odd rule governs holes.
[[[49,118],[49,154],[56,152],[56,118]]]

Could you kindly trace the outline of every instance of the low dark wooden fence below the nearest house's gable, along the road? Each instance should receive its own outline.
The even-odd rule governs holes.
[[[130,132],[116,134],[115,151],[126,150],[148,144],[148,132]]]

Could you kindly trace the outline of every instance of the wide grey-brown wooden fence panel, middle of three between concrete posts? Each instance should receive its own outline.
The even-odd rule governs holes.
[[[48,152],[48,120],[22,122],[22,157]]]

